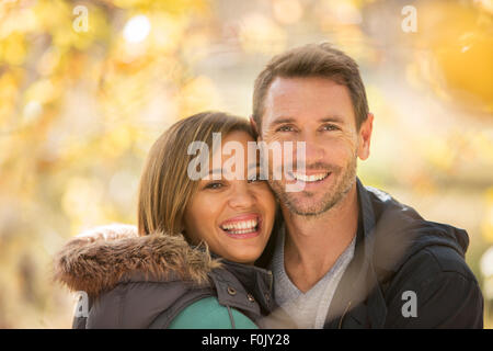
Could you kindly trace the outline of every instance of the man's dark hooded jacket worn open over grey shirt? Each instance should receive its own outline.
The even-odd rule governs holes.
[[[425,220],[359,180],[357,190],[355,256],[324,328],[482,328],[483,297],[465,262],[467,233]],[[259,265],[270,265],[276,235]],[[413,293],[415,298],[410,297]],[[409,315],[411,299],[416,316]]]

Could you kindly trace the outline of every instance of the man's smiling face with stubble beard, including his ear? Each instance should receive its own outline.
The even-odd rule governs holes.
[[[267,144],[306,141],[306,170],[296,169],[295,151],[293,172],[270,180],[282,205],[314,216],[344,199],[356,181],[357,157],[368,157],[371,123],[369,115],[357,129],[345,86],[326,78],[276,78],[265,97],[260,138]],[[303,190],[286,192],[294,182]]]

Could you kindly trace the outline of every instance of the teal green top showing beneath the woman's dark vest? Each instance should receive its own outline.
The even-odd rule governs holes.
[[[171,321],[170,329],[257,329],[240,310],[219,304],[215,296],[200,298],[185,307]]]

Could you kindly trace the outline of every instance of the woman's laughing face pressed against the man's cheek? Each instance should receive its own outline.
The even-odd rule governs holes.
[[[222,152],[228,141],[242,146],[244,162],[237,165],[244,170],[241,170],[242,177],[238,177],[234,167],[226,167],[225,162],[233,159],[230,151]],[[221,160],[220,179],[213,179],[213,162],[209,162],[209,180],[199,181],[197,192],[186,206],[184,227],[192,241],[204,240],[214,253],[229,261],[250,264],[267,244],[276,203],[266,181],[248,180],[252,173],[259,178],[260,171],[257,165],[248,165],[248,141],[254,139],[245,132],[222,136],[221,149],[213,155],[213,159]]]

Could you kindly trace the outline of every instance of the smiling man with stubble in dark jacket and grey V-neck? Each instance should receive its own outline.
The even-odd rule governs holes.
[[[259,139],[305,141],[305,170],[270,180],[284,220],[257,262],[301,328],[482,328],[465,230],[365,188],[374,116],[358,67],[328,44],[274,57],[255,80]],[[302,191],[286,185],[302,182]]]

